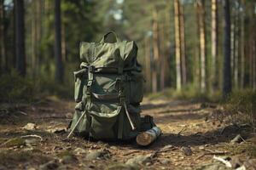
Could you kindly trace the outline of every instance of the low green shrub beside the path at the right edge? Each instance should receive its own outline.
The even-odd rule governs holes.
[[[256,91],[242,90],[232,93],[224,104],[224,111],[233,123],[256,125]]]

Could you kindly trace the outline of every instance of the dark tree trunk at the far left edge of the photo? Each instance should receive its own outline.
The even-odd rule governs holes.
[[[4,0],[0,0],[0,73],[7,70],[7,57],[5,51],[5,29],[4,29]]]

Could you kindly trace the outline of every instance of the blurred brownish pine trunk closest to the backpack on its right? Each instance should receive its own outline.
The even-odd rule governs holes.
[[[159,77],[159,62],[160,62],[160,51],[159,51],[159,26],[158,16],[156,9],[153,10],[153,51],[154,51],[154,67],[152,73],[152,91],[155,93],[158,91],[158,77]]]

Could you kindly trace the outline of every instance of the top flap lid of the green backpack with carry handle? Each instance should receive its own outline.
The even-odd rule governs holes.
[[[120,42],[116,36],[114,36],[114,41],[108,39],[110,35],[112,34],[106,34],[101,42],[80,43],[80,59],[84,65],[93,65],[96,69],[111,68],[112,71],[127,70],[136,66],[136,43],[133,41]]]

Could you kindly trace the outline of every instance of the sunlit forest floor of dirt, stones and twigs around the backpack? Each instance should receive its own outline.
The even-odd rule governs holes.
[[[0,169],[229,169],[213,156],[231,159],[233,167],[255,169],[253,127],[225,122],[219,105],[144,99],[143,115],[154,116],[163,132],[148,147],[67,139],[63,129],[73,107],[73,102],[57,99],[2,105]],[[242,139],[232,142],[238,134]]]

